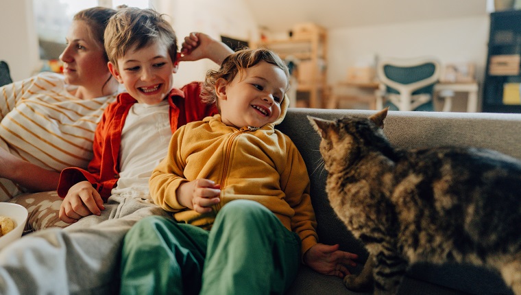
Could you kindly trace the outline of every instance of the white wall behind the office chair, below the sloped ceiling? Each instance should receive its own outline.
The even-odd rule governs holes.
[[[332,29],[328,39],[328,83],[346,80],[348,67],[368,66],[375,57],[437,56],[442,63],[474,62],[483,80],[488,16]]]

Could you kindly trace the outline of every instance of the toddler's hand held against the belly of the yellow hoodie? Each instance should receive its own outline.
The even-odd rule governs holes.
[[[208,213],[212,206],[221,202],[221,185],[209,179],[196,179],[178,187],[178,202],[197,213]]]

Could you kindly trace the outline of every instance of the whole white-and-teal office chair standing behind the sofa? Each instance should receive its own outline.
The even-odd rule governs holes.
[[[385,58],[376,66],[380,87],[376,108],[389,110],[434,110],[433,92],[440,64],[436,58]]]

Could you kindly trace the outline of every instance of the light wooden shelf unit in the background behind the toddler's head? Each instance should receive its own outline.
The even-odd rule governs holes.
[[[293,90],[296,88],[296,104],[291,106],[324,107],[327,85],[326,29],[313,24],[297,25],[291,37],[259,42],[254,47],[271,49],[286,62],[296,64],[296,79],[291,79],[290,83]]]

